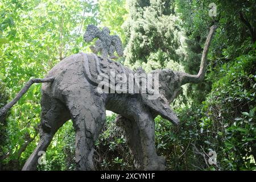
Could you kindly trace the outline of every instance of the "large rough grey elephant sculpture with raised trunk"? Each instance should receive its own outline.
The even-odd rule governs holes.
[[[156,154],[154,118],[162,115],[174,124],[179,123],[170,103],[179,95],[181,85],[204,80],[207,53],[215,29],[215,26],[210,28],[197,75],[170,69],[154,71],[159,75],[160,94],[155,100],[147,100],[145,94],[97,91],[93,79],[110,65],[117,71],[134,73],[122,64],[82,52],[60,61],[46,76],[54,77],[54,81],[42,84],[40,141],[23,170],[36,169],[40,157],[38,153],[47,150],[53,135],[69,119],[72,119],[76,133],[76,169],[93,170],[94,143],[104,126],[106,110],[119,114],[117,125],[125,130],[135,167],[142,170],[164,170],[165,160]]]

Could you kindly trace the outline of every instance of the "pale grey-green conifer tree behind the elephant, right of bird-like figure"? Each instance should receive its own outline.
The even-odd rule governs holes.
[[[128,5],[126,64],[149,72],[179,61],[183,57],[183,32],[174,12],[175,2],[131,0]]]

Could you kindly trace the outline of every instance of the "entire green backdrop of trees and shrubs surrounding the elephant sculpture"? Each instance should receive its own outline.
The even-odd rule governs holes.
[[[208,15],[209,3],[0,1],[0,107],[31,77],[44,77],[64,57],[90,52],[82,40],[88,24],[108,26],[121,36],[126,46],[126,59],[121,61],[132,69],[169,68],[192,74],[199,70],[209,27],[217,24],[205,81],[188,85],[187,97],[180,96],[174,104],[180,126],[155,119],[157,152],[171,170],[255,170],[255,3],[216,0],[216,17]],[[1,169],[20,169],[36,147],[40,97],[40,85],[31,86],[9,116],[1,118]],[[106,119],[96,143],[96,169],[134,169],[123,131],[114,120],[115,115]],[[208,163],[209,151],[216,151],[216,165]],[[75,169],[71,121],[53,138],[46,161],[39,170]]]

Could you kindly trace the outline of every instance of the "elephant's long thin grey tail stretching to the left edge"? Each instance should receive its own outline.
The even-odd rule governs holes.
[[[6,104],[0,109],[0,117],[3,117],[7,111],[11,109],[19,100],[20,98],[24,95],[24,93],[27,92],[27,90],[30,88],[31,85],[35,83],[44,83],[44,82],[53,82],[54,78],[49,77],[49,78],[32,78],[30,81],[26,82],[26,84],[23,86],[23,88],[19,91],[19,93],[16,95],[14,100]]]

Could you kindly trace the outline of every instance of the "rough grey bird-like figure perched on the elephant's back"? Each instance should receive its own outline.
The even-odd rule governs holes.
[[[89,43],[93,39],[98,38],[95,46],[90,46],[92,52],[96,55],[98,52],[101,52],[101,56],[104,58],[107,58],[109,55],[110,59],[117,59],[118,57],[114,55],[115,51],[117,51],[118,56],[123,56],[122,42],[117,35],[109,34],[110,30],[108,27],[104,27],[101,31],[93,24],[89,24],[84,34],[84,40]]]

